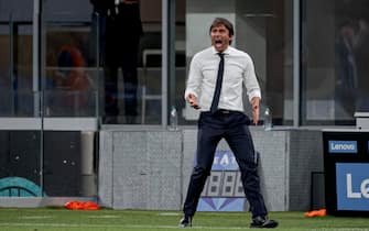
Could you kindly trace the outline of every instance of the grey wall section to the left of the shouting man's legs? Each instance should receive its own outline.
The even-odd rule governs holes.
[[[182,133],[101,131],[99,202],[115,209],[178,209]]]

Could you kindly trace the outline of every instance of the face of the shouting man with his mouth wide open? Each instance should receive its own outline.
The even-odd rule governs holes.
[[[217,52],[224,52],[229,45],[229,42],[232,40],[232,36],[229,35],[228,29],[223,25],[216,25],[210,31],[211,45]]]

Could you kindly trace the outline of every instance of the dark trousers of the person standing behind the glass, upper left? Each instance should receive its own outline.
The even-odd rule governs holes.
[[[105,53],[105,112],[117,117],[118,72],[121,69],[124,85],[124,116],[138,116],[138,46],[141,31],[127,32],[123,20],[108,19]],[[123,33],[124,32],[124,33]]]

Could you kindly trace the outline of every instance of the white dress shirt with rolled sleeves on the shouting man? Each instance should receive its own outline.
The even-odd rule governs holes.
[[[214,46],[195,54],[191,62],[185,99],[193,94],[198,99],[202,111],[209,111],[217,82],[220,57]],[[251,57],[235,47],[228,46],[225,54],[225,70],[218,109],[243,111],[242,86],[249,100],[261,98],[259,82]]]

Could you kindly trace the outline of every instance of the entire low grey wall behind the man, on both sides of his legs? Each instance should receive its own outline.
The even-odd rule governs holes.
[[[270,211],[308,210],[311,172],[323,170],[319,131],[251,128]],[[100,132],[99,202],[115,209],[181,210],[194,163],[196,129]],[[229,150],[221,141],[218,150]]]

